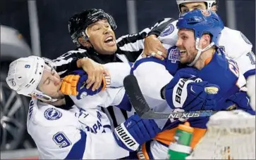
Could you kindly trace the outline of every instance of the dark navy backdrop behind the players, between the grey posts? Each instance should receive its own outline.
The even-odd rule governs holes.
[[[226,24],[225,1],[219,1],[217,13]],[[255,0],[236,0],[235,4],[236,29],[255,44]],[[42,56],[56,58],[75,48],[68,34],[68,19],[87,8],[102,8],[111,13],[118,25],[116,37],[128,34],[126,0],[37,0]],[[178,18],[175,0],[137,0],[136,8],[138,31],[154,25],[162,18]],[[31,46],[27,1],[1,0],[0,22],[1,25],[18,29]],[[255,52],[255,46],[252,50]]]

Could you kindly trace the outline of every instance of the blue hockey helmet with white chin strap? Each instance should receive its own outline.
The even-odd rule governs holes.
[[[195,64],[202,51],[206,51],[212,46],[218,46],[221,30],[224,29],[224,24],[217,13],[200,9],[181,15],[176,26],[178,29],[192,29],[195,33],[195,48],[198,50],[198,53],[195,60],[189,66]],[[211,44],[205,48],[199,48],[199,40],[203,34],[211,35]]]

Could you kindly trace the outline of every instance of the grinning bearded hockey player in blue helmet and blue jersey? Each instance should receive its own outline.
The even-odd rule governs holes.
[[[238,105],[238,109],[251,112],[246,93],[240,91],[246,84],[243,74],[236,62],[218,47],[224,28],[219,16],[207,10],[191,11],[179,18],[177,27],[178,48],[171,47],[166,60],[142,58],[133,65],[133,74],[150,107],[155,112],[189,112],[235,109]],[[185,67],[189,64],[194,68]],[[217,94],[205,91],[208,86],[214,86],[208,83],[217,84]],[[236,93],[240,96],[234,96]],[[195,129],[191,144],[195,147],[205,134],[208,117],[156,119],[163,132],[142,145],[139,156],[142,159],[165,159],[176,126],[187,120]]]

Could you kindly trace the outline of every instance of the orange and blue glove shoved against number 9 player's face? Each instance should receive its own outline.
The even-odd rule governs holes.
[[[65,95],[76,95],[78,100],[84,98],[86,95],[95,95],[100,91],[103,91],[110,84],[110,76],[105,76],[102,81],[102,85],[95,91],[92,91],[92,86],[86,88],[85,84],[88,79],[88,75],[82,69],[71,72],[68,76],[65,76],[62,85],[61,92]]]

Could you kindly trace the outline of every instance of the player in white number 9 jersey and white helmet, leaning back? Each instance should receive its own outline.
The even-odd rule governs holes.
[[[128,68],[129,73],[128,64],[121,63],[121,66]],[[39,159],[119,159],[160,131],[153,120],[140,119],[137,115],[111,130],[110,121],[99,106],[126,104],[128,99],[123,98],[122,88],[108,88],[97,95],[88,90],[86,98],[72,97],[75,105],[70,110],[45,103],[63,98],[62,81],[54,68],[37,56],[12,62],[6,81],[18,94],[32,97],[27,126],[37,145]]]

